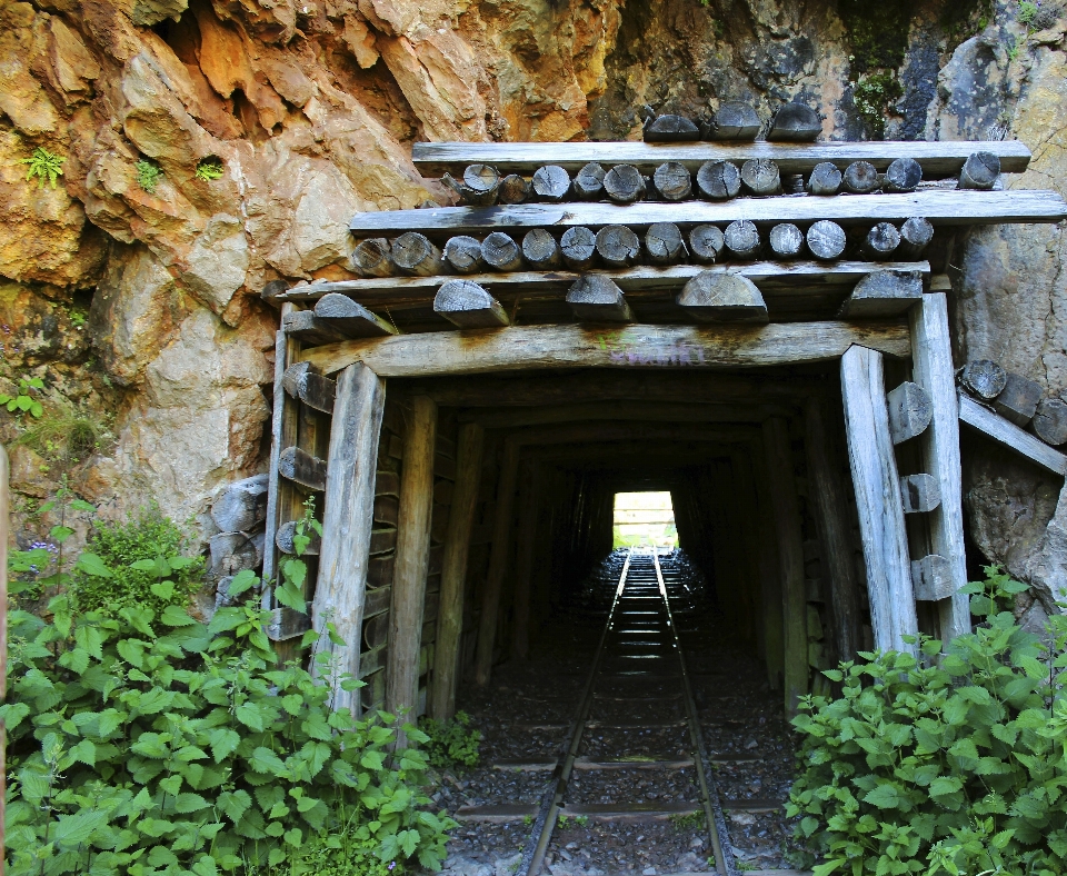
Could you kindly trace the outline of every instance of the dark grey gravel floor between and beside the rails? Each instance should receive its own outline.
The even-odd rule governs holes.
[[[666,563],[669,560],[665,561]],[[483,734],[481,763],[462,775],[446,774],[436,795],[455,813],[461,806],[538,805],[554,787],[551,772],[495,769],[500,760],[555,759],[569,740],[602,625],[621,568],[614,555],[599,578],[591,577],[534,643],[531,660],[497,667],[485,690],[463,688],[459,706]],[[732,650],[714,610],[701,603],[699,587],[672,597],[694,688],[698,719],[712,761],[719,797],[730,800],[784,800],[792,776],[792,738],[781,711],[781,696],[770,691],[755,658]],[[689,630],[689,631],[686,631]],[[640,637],[635,636],[635,640]],[[590,760],[645,757],[682,759],[690,754],[688,727],[625,727],[612,724],[667,724],[685,718],[677,679],[626,675],[635,668],[667,674],[667,659],[608,656],[597,686],[590,720],[578,755]],[[636,665],[639,665],[636,667]],[[657,699],[657,697],[660,697]],[[552,726],[549,726],[552,725]],[[694,767],[681,769],[576,769],[565,804],[698,802]],[[728,805],[728,803],[727,803]],[[727,810],[729,842],[746,869],[786,868],[782,857],[791,834],[784,814]],[[532,822],[532,819],[529,819]],[[448,844],[446,876],[513,876],[529,839],[530,823],[461,823]],[[597,822],[569,818],[555,834],[546,857],[551,876],[641,874],[662,876],[705,872],[707,835],[699,818]]]

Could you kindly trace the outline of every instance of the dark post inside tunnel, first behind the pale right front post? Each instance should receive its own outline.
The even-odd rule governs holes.
[[[810,398],[805,405],[805,450],[822,542],[822,569],[830,584],[834,639],[839,660],[851,660],[859,640],[859,575],[854,560],[846,485],[830,454],[826,431],[826,402]]]

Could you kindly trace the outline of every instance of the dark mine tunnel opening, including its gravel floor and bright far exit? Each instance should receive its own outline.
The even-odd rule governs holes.
[[[836,364],[389,389],[368,605],[402,561],[393,494],[403,507],[412,399],[429,397],[420,709],[460,710],[485,737],[480,765],[441,792],[462,825],[453,852],[560,863],[575,845],[607,870],[647,847],[649,866],[706,869],[714,803],[738,856],[786,866],[788,711],[827,689],[819,670],[871,644]],[[463,518],[465,576],[449,593]],[[844,556],[828,554],[828,527]],[[381,668],[363,671],[366,707],[388,700],[397,608],[375,605],[361,663]],[[527,847],[546,817],[546,844]]]

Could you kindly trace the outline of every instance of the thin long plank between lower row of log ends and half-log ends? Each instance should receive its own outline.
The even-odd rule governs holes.
[[[928,261],[755,261],[740,265],[671,265],[657,267],[639,265],[621,270],[599,270],[624,292],[674,291],[684,287],[698,273],[736,273],[756,283],[761,291],[820,286],[830,288],[855,286],[864,277],[876,271],[919,271],[930,276]],[[515,271],[511,273],[476,273],[463,277],[465,280],[497,295],[508,290],[521,290],[526,298],[532,293],[566,291],[581,277],[579,271]],[[332,280],[293,286],[283,296],[287,301],[312,301],[331,292],[342,292],[362,303],[373,307],[388,303],[390,307],[406,302],[429,305],[443,277],[371,277],[361,280]]]

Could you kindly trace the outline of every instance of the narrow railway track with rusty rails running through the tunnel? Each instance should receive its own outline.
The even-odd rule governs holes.
[[[677,580],[670,581],[679,589]],[[592,729],[645,728],[687,731],[688,757],[677,751],[660,756],[648,751],[614,751],[614,757],[592,759],[579,755],[585,737]],[[632,738],[635,734],[631,734]],[[624,744],[625,745],[625,744]],[[685,743],[682,744],[685,746]],[[582,803],[572,785],[576,767],[581,770],[621,770],[639,767],[650,782],[662,782],[665,774],[694,767],[697,800],[666,803]],[[658,774],[658,775],[657,775]],[[652,818],[701,813],[708,829],[716,869],[722,876],[735,876],[737,868],[726,822],[715,788],[692,686],[685,654],[675,626],[668,584],[656,550],[630,550],[622,566],[597,653],[589,671],[581,704],[575,718],[569,745],[557,761],[550,790],[546,794],[535,822],[530,843],[523,855],[528,876],[537,876],[545,865],[546,853],[560,817]],[[665,783],[669,784],[669,783]],[[656,796],[654,793],[646,797]]]

